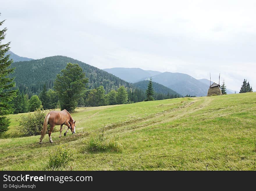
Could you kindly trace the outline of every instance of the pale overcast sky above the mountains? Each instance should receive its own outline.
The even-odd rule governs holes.
[[[256,1],[1,2],[19,56],[63,55],[100,69],[139,67],[256,90]]]

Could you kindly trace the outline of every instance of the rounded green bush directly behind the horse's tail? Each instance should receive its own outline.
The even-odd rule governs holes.
[[[22,116],[19,121],[19,126],[24,135],[40,135],[45,121],[45,116],[48,113],[46,110],[41,110],[42,106],[35,110],[33,114],[29,113],[28,116]]]

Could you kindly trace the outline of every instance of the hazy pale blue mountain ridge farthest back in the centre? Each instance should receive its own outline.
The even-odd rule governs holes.
[[[158,71],[143,70],[141,68],[109,68],[103,70],[131,83],[161,73]]]

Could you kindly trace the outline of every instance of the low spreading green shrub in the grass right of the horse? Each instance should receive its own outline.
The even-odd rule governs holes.
[[[99,134],[93,133],[89,140],[84,141],[85,149],[89,152],[115,151],[120,152],[121,145],[118,143],[118,136],[111,139],[104,136],[104,131]]]

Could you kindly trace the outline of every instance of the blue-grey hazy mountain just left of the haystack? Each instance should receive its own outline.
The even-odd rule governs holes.
[[[145,80],[148,78],[145,78]],[[206,96],[209,85],[189,76],[188,74],[163,72],[152,76],[152,81],[160,83],[167,88],[186,96]]]

